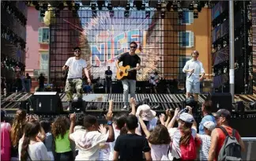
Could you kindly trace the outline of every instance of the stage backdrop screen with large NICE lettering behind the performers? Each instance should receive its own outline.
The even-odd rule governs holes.
[[[166,13],[165,19],[156,11],[130,10],[129,17],[124,16],[122,9],[114,10],[113,17],[106,10],[97,10],[95,17],[88,9],[81,8],[77,13],[80,21],[65,11],[61,18],[52,17],[55,23],[50,26],[51,81],[64,84],[61,69],[76,46],[81,47],[94,79],[104,78],[107,66],[111,66],[115,79],[115,60],[130,50],[133,41],[138,44],[136,53],[141,58],[137,80],[148,80],[155,71],[162,77],[184,80],[182,68],[187,57],[183,46],[194,39],[190,39],[190,33],[179,34],[186,33],[186,28],[178,23],[177,13]]]

